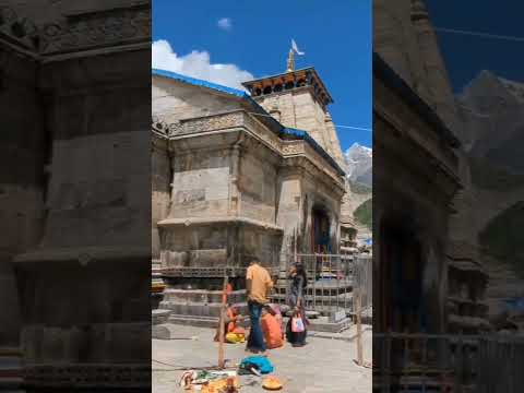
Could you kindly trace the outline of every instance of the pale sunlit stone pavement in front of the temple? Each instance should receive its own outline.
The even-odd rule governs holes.
[[[215,331],[206,327],[176,325],[178,337],[193,340],[153,340],[153,392],[183,392],[178,386],[182,373],[180,368],[198,369],[217,364],[217,343],[213,342]],[[371,326],[364,326],[364,356],[370,361],[372,356]],[[270,360],[275,374],[284,382],[283,393],[360,393],[371,392],[371,369],[354,364],[356,358],[355,326],[331,335],[311,336],[308,345],[293,348],[285,344],[283,348],[270,352]],[[235,366],[248,356],[243,344],[225,344],[226,359]],[[247,385],[249,381],[253,385]],[[264,392],[258,378],[241,377],[241,393]]]

